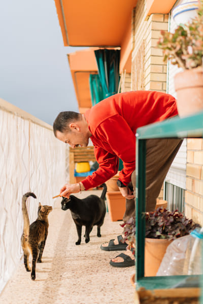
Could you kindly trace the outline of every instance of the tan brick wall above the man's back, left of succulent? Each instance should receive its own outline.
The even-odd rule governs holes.
[[[138,77],[133,77],[134,69],[138,67],[138,64],[133,64],[133,62],[136,61],[137,56],[140,56],[140,48],[144,42],[144,62],[143,66],[139,67],[144,72],[144,89],[165,92],[166,63],[163,63],[162,50],[156,48],[156,44],[160,37],[160,30],[167,30],[168,28],[168,15],[152,14],[147,19],[145,11],[146,0],[139,0],[134,12],[134,28],[132,31],[132,88],[133,82],[137,82],[138,79]],[[142,87],[137,89],[142,89]]]

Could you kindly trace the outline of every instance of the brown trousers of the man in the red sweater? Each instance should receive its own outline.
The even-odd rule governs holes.
[[[182,144],[182,139],[147,139],[146,141],[146,211],[153,211],[164,178]],[[136,197],[136,171],[132,172],[131,183]],[[127,200],[123,221],[135,215],[135,199]]]

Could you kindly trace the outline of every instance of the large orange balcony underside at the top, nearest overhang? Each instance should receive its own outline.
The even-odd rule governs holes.
[[[119,47],[137,0],[55,0],[64,46]]]

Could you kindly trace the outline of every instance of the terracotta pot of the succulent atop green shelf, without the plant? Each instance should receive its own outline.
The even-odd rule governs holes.
[[[203,111],[203,70],[188,69],[174,77],[177,92],[177,107],[180,117],[186,117]]]

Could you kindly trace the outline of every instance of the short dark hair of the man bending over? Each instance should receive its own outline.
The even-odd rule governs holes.
[[[56,136],[56,131],[69,132],[70,123],[81,120],[81,114],[73,111],[60,112],[53,123],[53,131]]]

